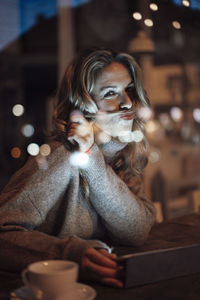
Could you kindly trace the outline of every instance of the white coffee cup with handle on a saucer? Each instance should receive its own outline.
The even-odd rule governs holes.
[[[22,272],[22,279],[36,299],[74,300],[78,264],[66,260],[32,263]]]

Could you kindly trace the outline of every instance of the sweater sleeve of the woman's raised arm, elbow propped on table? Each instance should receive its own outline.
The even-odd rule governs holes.
[[[147,237],[155,221],[155,209],[144,195],[141,181],[126,183],[104,160],[97,145],[84,170],[90,201],[101,216],[110,238],[117,244],[133,246]]]

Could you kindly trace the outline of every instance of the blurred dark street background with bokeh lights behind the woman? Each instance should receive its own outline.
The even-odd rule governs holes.
[[[200,206],[200,0],[0,0],[0,190],[48,155],[53,99],[80,50],[133,55],[152,109],[145,189],[157,221]],[[46,148],[45,148],[46,147]]]

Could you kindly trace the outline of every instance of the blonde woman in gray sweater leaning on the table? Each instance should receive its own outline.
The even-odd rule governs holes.
[[[30,158],[0,198],[1,268],[69,259],[81,274],[122,286],[109,246],[142,243],[155,219],[140,181],[147,143],[133,139],[143,130],[137,110],[148,105],[128,54],[90,49],[68,66],[47,167]],[[77,151],[88,157],[84,168],[72,161]]]

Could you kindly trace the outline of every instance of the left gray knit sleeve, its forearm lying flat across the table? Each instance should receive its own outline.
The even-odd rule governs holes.
[[[29,263],[69,259],[78,263],[88,247],[99,241],[77,236],[59,238],[37,230],[69,184],[70,170],[64,147],[57,147],[44,165],[31,158],[10,180],[0,196],[1,270],[21,271]]]

